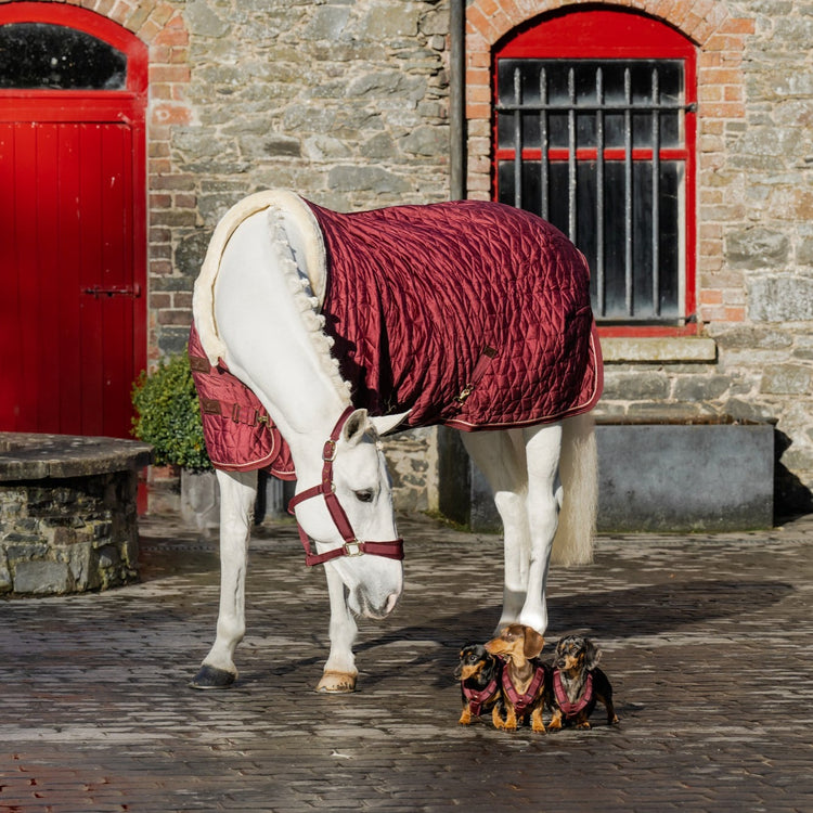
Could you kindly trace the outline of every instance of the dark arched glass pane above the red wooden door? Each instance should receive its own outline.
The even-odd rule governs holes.
[[[127,56],[85,31],[46,23],[0,26],[0,88],[122,90]]]

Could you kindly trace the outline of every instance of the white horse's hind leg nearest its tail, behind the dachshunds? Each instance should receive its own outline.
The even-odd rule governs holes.
[[[544,633],[547,629],[545,586],[559,514],[556,489],[562,451],[562,425],[534,427],[526,429],[525,434],[531,551],[528,566],[528,592],[522,611],[519,614],[519,621]]]

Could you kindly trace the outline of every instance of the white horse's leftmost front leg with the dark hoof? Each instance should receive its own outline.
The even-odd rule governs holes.
[[[234,650],[246,631],[245,581],[248,539],[257,498],[256,472],[217,473],[220,485],[220,610],[217,637],[193,688],[228,688],[237,678]]]

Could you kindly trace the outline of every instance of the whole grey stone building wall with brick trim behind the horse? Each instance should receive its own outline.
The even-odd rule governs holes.
[[[79,0],[68,0],[78,3]],[[467,0],[467,193],[491,194],[491,48],[577,0]],[[185,343],[209,235],[288,186],[339,210],[449,194],[449,0],[81,0],[150,46],[150,358]],[[605,412],[777,422],[779,509],[813,487],[813,70],[809,0],[616,0],[698,47],[699,333],[607,344]],[[697,353],[686,343],[712,343]],[[616,346],[614,347],[614,343]],[[435,433],[390,447],[431,507]],[[425,470],[422,470],[425,469]],[[428,481],[428,490],[424,488]]]

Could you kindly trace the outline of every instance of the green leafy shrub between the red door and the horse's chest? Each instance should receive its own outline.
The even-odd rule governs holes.
[[[132,388],[132,403],[139,413],[132,434],[152,443],[155,463],[198,472],[211,468],[186,353],[162,360],[150,375],[142,371]]]

